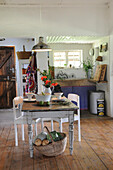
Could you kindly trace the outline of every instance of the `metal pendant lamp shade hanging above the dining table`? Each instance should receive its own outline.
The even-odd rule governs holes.
[[[49,45],[43,42],[43,37],[39,37],[39,43],[34,45],[32,48],[34,52],[52,51]]]

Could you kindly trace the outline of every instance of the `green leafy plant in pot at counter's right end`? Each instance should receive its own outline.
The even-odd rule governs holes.
[[[93,64],[90,59],[87,58],[87,60],[83,61],[83,69],[85,70],[88,79],[91,78],[92,68],[93,68]]]

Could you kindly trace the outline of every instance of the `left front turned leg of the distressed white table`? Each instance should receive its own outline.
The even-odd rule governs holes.
[[[28,121],[28,136],[29,136],[29,151],[30,157],[33,158],[33,128],[32,124]]]

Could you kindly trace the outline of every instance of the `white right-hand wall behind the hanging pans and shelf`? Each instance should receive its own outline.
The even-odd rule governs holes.
[[[100,52],[100,45],[103,43],[108,43],[108,50],[106,52]],[[96,41],[93,44],[94,49],[99,47],[99,56],[103,57],[103,61],[102,62],[97,62],[96,61],[96,66],[98,64],[107,64],[107,74],[106,74],[106,80],[108,81],[107,83],[97,83],[96,84],[96,90],[103,90],[105,91],[105,101],[106,101],[106,114],[108,116],[111,116],[110,113],[110,61],[109,61],[109,46],[110,46],[110,42],[109,42],[109,37],[104,37],[98,41]],[[94,56],[95,57],[95,56]],[[95,58],[96,60],[96,58]]]

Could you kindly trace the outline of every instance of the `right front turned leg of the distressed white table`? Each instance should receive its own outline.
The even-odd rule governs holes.
[[[73,138],[74,138],[74,126],[73,126],[73,122],[74,122],[74,114],[69,115],[69,144],[70,144],[70,155],[73,154]]]

